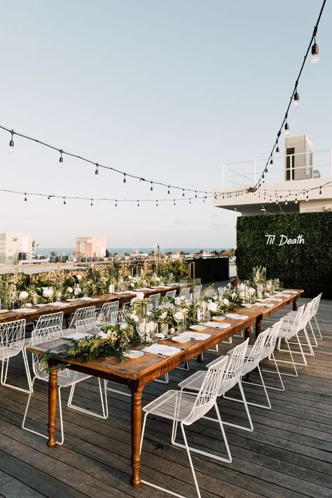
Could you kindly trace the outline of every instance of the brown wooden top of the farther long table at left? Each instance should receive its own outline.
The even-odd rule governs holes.
[[[160,294],[165,295],[168,290],[177,290],[179,285],[168,285],[167,287],[162,288],[154,288],[154,289],[146,289],[144,290],[144,295],[148,297],[152,294]],[[103,294],[100,296],[93,297],[91,300],[84,300],[78,298],[76,301],[62,301],[62,305],[57,306],[56,304],[47,304],[43,307],[33,306],[31,307],[31,311],[22,313],[22,311],[9,310],[6,313],[0,314],[0,323],[10,322],[14,320],[20,320],[21,318],[25,318],[29,321],[38,320],[39,316],[49,315],[52,313],[57,313],[57,311],[63,311],[64,318],[66,319],[67,325],[69,325],[70,316],[75,313],[76,309],[85,308],[88,306],[95,306],[97,308],[102,307],[106,302],[112,301],[120,301],[120,306],[125,302],[130,302],[136,294],[134,292],[125,292],[123,293],[113,293],[113,294]]]

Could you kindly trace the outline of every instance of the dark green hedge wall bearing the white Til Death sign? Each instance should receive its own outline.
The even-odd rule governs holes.
[[[268,245],[265,235],[275,234]],[[279,245],[280,236],[304,243]],[[332,299],[332,213],[292,213],[237,218],[237,274],[251,278],[255,266],[286,288],[304,289],[312,297],[323,292]]]

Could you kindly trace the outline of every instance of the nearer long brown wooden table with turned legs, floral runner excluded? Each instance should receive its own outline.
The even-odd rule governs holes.
[[[102,379],[107,379],[113,382],[123,384],[130,389],[131,392],[131,440],[132,440],[132,486],[137,487],[141,484],[140,467],[141,455],[139,454],[139,444],[141,439],[141,396],[144,386],[154,379],[157,379],[166,372],[170,372],[174,368],[182,365],[186,361],[195,358],[202,354],[207,349],[218,344],[219,342],[228,339],[228,337],[245,330],[246,337],[249,337],[253,326],[256,327],[256,333],[261,329],[261,321],[266,316],[279,311],[287,304],[293,303],[293,309],[297,307],[298,297],[303,290],[296,290],[296,294],[285,297],[282,302],[274,302],[273,307],[265,308],[259,305],[254,305],[250,308],[242,308],[236,310],[236,314],[244,315],[243,320],[234,320],[225,318],[227,323],[231,325],[226,329],[206,328],[205,333],[209,334],[207,339],[202,341],[191,340],[190,342],[182,343],[177,346],[172,340],[162,341],[162,344],[177,346],[180,348],[179,353],[166,358],[156,354],[145,353],[137,359],[128,360],[125,363],[120,363],[115,356],[108,356],[94,361],[82,363],[80,361],[59,360],[58,358],[50,358],[48,363],[56,365],[57,363],[69,363],[72,370],[83,372]],[[245,318],[247,316],[247,318]],[[55,349],[62,344],[65,344],[68,339],[57,339],[52,345]],[[50,345],[46,342],[38,344],[38,346],[28,347],[27,351],[35,354],[42,354],[48,351]],[[57,370],[52,370],[48,380],[48,446],[55,447],[55,416],[57,407]]]

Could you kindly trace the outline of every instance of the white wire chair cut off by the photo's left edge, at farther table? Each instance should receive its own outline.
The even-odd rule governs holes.
[[[10,387],[17,391],[30,393],[32,391],[32,379],[27,361],[27,351],[25,350],[27,341],[25,340],[25,319],[12,322],[0,323],[0,360],[1,360],[1,386]],[[8,365],[9,359],[22,353],[27,373],[27,382],[29,389],[23,389],[13,384],[8,384]]]

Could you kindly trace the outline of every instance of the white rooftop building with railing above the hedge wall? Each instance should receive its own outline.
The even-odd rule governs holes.
[[[243,216],[332,210],[332,151],[315,151],[306,135],[286,138],[284,156],[223,165],[214,206]],[[268,173],[254,193],[268,161]],[[327,184],[327,185],[326,185]]]

